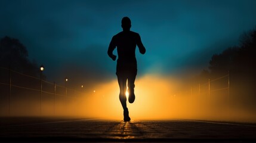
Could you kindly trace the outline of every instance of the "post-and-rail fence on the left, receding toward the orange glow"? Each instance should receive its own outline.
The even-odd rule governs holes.
[[[66,80],[67,82],[67,80]],[[17,90],[18,89],[18,90]],[[0,67],[0,97],[2,98],[1,105],[4,106],[4,101],[8,101],[8,114],[12,113],[12,104],[14,104],[14,98],[33,98],[30,95],[37,97],[40,95],[39,112],[42,114],[42,98],[48,97],[53,100],[53,112],[55,114],[55,102],[58,97],[66,99],[76,99],[80,97],[83,92],[75,89],[67,88],[65,86],[57,85],[55,82],[48,82],[41,77],[29,76],[18,71],[14,71],[5,67]],[[30,96],[30,97],[28,97]],[[37,98],[38,99],[38,98]],[[49,100],[45,98],[45,100]]]

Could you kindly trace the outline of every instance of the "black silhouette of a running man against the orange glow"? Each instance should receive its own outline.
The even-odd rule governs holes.
[[[119,100],[124,109],[124,121],[130,121],[129,111],[127,108],[127,97],[125,92],[127,91],[127,81],[128,81],[128,101],[130,103],[134,102],[134,82],[137,75],[137,60],[135,58],[136,45],[141,54],[145,54],[146,49],[141,42],[140,35],[138,33],[132,32],[131,20],[128,17],[122,18],[122,32],[113,36],[107,54],[113,61],[116,60],[116,55],[113,55],[114,49],[117,47],[118,51],[118,61],[116,64],[116,75],[118,76],[118,84],[120,88]]]

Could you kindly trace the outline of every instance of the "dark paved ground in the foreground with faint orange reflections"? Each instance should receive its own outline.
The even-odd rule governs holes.
[[[256,124],[1,117],[0,142],[256,142]]]

